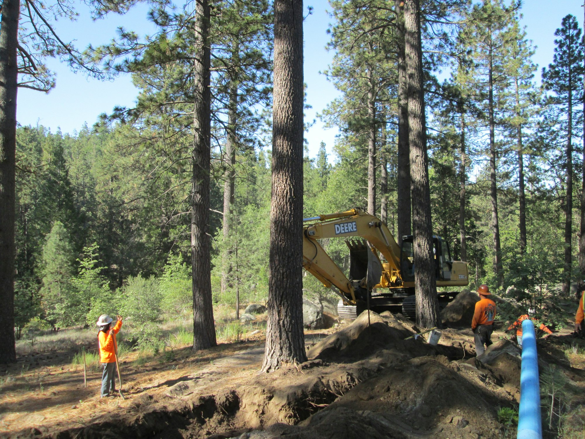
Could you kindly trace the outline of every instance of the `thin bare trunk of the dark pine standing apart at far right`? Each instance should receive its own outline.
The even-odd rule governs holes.
[[[568,293],[571,283],[572,226],[573,226],[573,83],[569,64],[569,102],[567,115],[567,198],[565,201],[565,265],[563,266],[563,293]]]

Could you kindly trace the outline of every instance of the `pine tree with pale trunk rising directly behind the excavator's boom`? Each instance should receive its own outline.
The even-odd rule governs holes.
[[[325,74],[343,92],[324,112],[326,119],[342,125],[342,131],[355,136],[353,148],[367,151],[367,211],[376,215],[377,114],[381,95],[395,76],[387,52],[393,47],[388,32],[388,13],[374,1],[364,8],[359,1],[333,1],[332,15],[337,19],[331,29],[329,47],[336,50],[333,64]],[[390,36],[389,36],[390,35]],[[358,50],[359,48],[359,50]]]

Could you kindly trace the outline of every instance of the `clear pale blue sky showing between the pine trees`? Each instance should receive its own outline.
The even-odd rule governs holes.
[[[538,64],[539,71],[552,62],[554,33],[555,29],[560,27],[561,19],[572,13],[582,27],[581,4],[581,0],[524,1],[522,25],[526,26],[528,39],[536,46],[534,62]],[[307,121],[312,121],[317,112],[338,96],[338,92],[322,74],[319,74],[331,63],[333,55],[325,49],[329,40],[326,30],[331,23],[331,18],[326,13],[328,2],[312,0],[305,2],[306,5],[314,6],[313,14],[308,16],[304,24],[304,73],[307,102],[312,106],[305,114]],[[80,48],[89,43],[96,46],[108,42],[115,35],[118,26],[140,33],[154,32],[153,26],[146,20],[146,11],[147,6],[139,4],[124,16],[112,15],[92,22],[87,13],[87,6],[81,3],[78,6],[80,12],[78,20],[75,22],[61,20],[56,28],[64,40],[76,40]],[[99,114],[111,112],[115,105],[132,106],[136,99],[137,90],[127,75],[113,81],[88,80],[80,73],[71,73],[65,64],[60,64],[57,60],[49,60],[48,64],[51,70],[57,73],[57,86],[49,94],[19,89],[17,118],[21,125],[38,123],[53,132],[60,127],[61,131],[71,133],[80,129],[84,122],[91,126]],[[309,143],[309,154],[311,156],[316,154],[321,141],[326,143],[328,151],[331,152],[336,133],[335,129],[324,129],[317,120],[305,133]]]

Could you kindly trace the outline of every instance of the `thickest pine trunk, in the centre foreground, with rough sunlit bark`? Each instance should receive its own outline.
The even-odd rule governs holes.
[[[302,0],[274,1],[270,277],[263,372],[307,361],[302,327]]]

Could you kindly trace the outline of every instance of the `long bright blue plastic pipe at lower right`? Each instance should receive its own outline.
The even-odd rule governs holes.
[[[538,380],[536,334],[532,320],[522,322],[522,368],[517,439],[542,439],[541,389]]]

